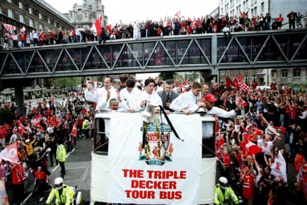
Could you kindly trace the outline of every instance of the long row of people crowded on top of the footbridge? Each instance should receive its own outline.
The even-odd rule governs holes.
[[[68,30],[49,30],[42,31],[34,29],[31,33],[21,31],[17,33],[8,33],[3,36],[4,49],[8,47],[9,39],[13,42],[13,47],[29,47],[80,43],[80,42],[105,42],[108,39],[124,39],[124,38],[141,38],[152,36],[166,35],[191,35],[205,33],[225,33],[230,35],[231,32],[239,31],[264,31],[281,29],[284,19],[281,14],[275,18],[269,13],[256,16],[248,16],[249,10],[240,11],[240,15],[229,16],[202,16],[202,17],[184,17],[166,16],[160,20],[136,20],[133,23],[124,24],[122,22],[115,25],[106,25],[102,28],[99,36],[96,36],[91,27],[79,27]],[[306,19],[306,13],[291,11],[287,17],[289,18],[289,29],[302,28],[302,20]]]

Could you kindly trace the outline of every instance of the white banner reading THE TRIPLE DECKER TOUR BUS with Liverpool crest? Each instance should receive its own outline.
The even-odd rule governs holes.
[[[201,181],[202,122],[199,115],[168,116],[184,141],[174,136],[164,118],[163,139],[157,141],[157,124],[153,119],[147,125],[148,146],[145,146],[145,152],[142,149],[141,114],[111,114],[109,203],[197,204]],[[161,132],[161,117],[157,117]],[[124,123],[127,121],[129,124]]]

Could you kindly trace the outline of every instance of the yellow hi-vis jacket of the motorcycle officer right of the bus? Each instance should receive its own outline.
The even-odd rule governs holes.
[[[229,198],[231,197],[231,199]],[[229,204],[230,200],[234,202],[234,204],[239,204],[239,200],[237,196],[235,195],[234,191],[231,189],[231,187],[227,187],[225,190],[225,196],[224,196],[224,190],[220,187],[220,184],[215,185],[214,187],[214,204]]]

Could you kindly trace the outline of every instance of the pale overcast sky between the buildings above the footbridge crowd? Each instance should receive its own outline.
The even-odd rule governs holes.
[[[75,3],[82,0],[45,0],[61,13],[73,9]],[[104,13],[108,17],[108,24],[129,23],[130,21],[159,20],[160,16],[174,16],[178,11],[181,16],[205,16],[218,6],[218,0],[107,0],[102,1]]]

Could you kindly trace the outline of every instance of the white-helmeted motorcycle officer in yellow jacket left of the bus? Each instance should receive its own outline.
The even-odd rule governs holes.
[[[74,198],[74,190],[67,185],[64,185],[63,178],[57,177],[54,180],[54,188],[51,190],[46,204],[50,204],[54,197],[56,205],[71,205]]]

